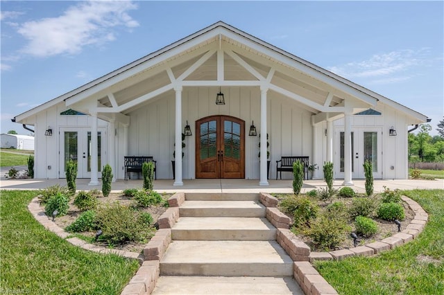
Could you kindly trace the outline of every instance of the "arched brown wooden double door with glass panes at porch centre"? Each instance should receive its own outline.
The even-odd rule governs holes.
[[[196,178],[245,178],[245,122],[232,116],[196,121]]]

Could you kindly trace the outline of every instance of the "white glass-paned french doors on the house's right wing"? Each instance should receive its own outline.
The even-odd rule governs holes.
[[[336,178],[344,177],[344,132],[336,129]],[[382,129],[352,128],[352,178],[364,179],[364,162],[373,165],[373,178],[382,178]]]

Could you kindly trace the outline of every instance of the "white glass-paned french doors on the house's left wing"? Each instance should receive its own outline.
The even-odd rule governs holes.
[[[97,171],[101,177],[101,167],[104,165],[103,155],[105,154],[105,129],[97,130]],[[77,178],[91,177],[91,130],[78,128],[60,129],[60,178],[66,177],[67,162],[71,159],[77,163]]]

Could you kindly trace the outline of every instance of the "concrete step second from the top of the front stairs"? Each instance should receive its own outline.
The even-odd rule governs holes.
[[[265,217],[265,207],[255,201],[185,201],[183,217]]]

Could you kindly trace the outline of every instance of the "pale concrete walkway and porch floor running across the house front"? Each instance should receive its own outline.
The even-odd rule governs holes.
[[[3,175],[2,175],[3,176]],[[259,186],[257,179],[184,179],[183,186],[173,186],[173,179],[159,179],[154,181],[154,189],[159,193],[292,193],[293,186],[290,179],[287,180],[268,180],[269,186]],[[365,193],[365,180],[359,179],[353,181],[355,186],[352,188]],[[101,190],[99,186],[88,186],[89,179],[77,179],[77,190]],[[343,180],[334,181],[335,188],[342,187]],[[47,188],[59,184],[67,186],[66,179],[3,179],[0,181],[0,188],[7,190],[35,190]],[[111,184],[112,192],[118,193],[126,188],[142,188],[142,179],[138,180],[117,180]],[[323,180],[304,181],[302,193],[308,190],[325,187]],[[382,192],[384,186],[394,190],[420,189],[444,189],[444,179],[436,180],[416,180],[416,179],[395,179],[395,180],[375,180],[375,193]]]

